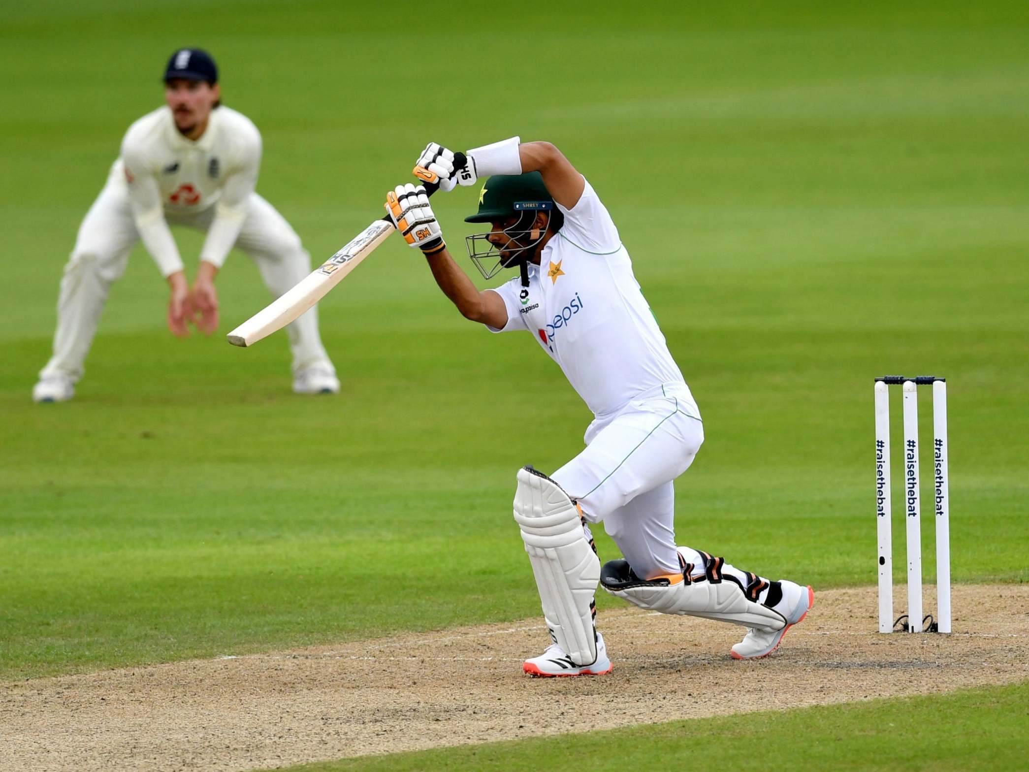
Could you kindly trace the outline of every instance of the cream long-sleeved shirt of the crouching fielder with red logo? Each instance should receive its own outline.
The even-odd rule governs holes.
[[[260,133],[228,107],[211,110],[198,140],[182,136],[167,105],[129,127],[111,169],[129,186],[133,218],[147,250],[165,276],[182,270],[166,215],[215,208],[201,258],[221,266],[246,218],[257,185]]]

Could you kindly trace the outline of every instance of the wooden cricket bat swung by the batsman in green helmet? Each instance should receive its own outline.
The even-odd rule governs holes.
[[[465,163],[464,153],[454,153],[455,169],[462,169]],[[438,178],[427,169],[416,167],[415,176],[422,180],[426,195],[432,196],[439,188]],[[228,342],[246,348],[285,327],[324,297],[395,230],[389,217],[372,222],[307,278],[229,332]]]

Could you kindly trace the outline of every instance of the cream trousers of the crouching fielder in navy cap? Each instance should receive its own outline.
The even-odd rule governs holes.
[[[207,231],[214,207],[201,212],[167,213],[170,225]],[[129,189],[111,174],[78,229],[75,248],[61,280],[54,356],[40,378],[63,375],[73,382],[84,372],[83,362],[93,345],[100,314],[112,283],[121,278],[129,252],[139,241],[129,203]],[[236,247],[257,264],[264,284],[278,297],[311,272],[311,255],[279,212],[257,194],[250,195],[247,217]],[[317,308],[287,328],[293,354],[293,372],[317,361],[328,361],[318,335]]]

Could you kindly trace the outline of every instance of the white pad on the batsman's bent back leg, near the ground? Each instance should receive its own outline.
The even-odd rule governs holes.
[[[601,582],[611,595],[661,613],[704,617],[768,632],[786,626],[781,613],[747,598],[729,577],[714,583],[701,577],[688,584],[681,575],[646,581],[632,573],[626,561],[612,560],[604,565]]]

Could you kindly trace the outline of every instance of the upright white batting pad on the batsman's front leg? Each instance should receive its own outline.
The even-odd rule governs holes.
[[[529,554],[543,617],[576,665],[597,661],[593,599],[600,559],[582,531],[578,511],[557,483],[531,466],[519,469],[514,521]]]

